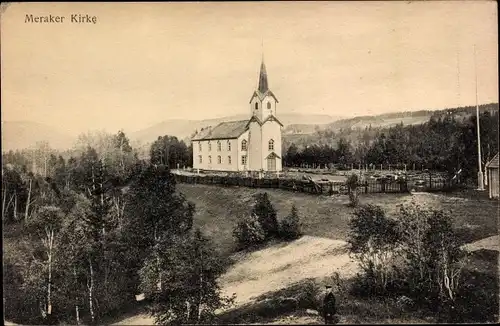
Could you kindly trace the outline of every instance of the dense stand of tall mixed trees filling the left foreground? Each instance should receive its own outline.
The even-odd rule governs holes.
[[[7,320],[103,323],[144,293],[158,323],[213,321],[230,303],[216,282],[227,262],[193,229],[195,207],[176,192],[168,165],[181,157],[165,161],[156,150],[176,146],[159,139],[149,161],[162,158],[151,164],[119,132],[106,151],[86,146],[65,159],[41,150],[41,169],[21,152],[3,155]]]

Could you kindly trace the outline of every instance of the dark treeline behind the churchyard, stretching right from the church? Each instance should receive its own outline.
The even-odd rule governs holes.
[[[375,129],[367,127],[353,142],[345,137],[331,144],[314,144],[299,149],[296,144],[287,145],[284,163],[288,167],[330,166],[333,163],[349,166],[354,164],[406,164],[438,171],[456,172],[466,176],[477,173],[476,116],[464,120],[452,115],[431,117],[421,125]],[[480,115],[481,150],[484,165],[498,152],[498,110],[485,111]]]

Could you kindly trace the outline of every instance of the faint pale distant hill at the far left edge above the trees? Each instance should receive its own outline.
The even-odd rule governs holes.
[[[54,149],[67,149],[74,137],[54,127],[33,121],[2,121],[2,152],[34,146],[46,141]]]

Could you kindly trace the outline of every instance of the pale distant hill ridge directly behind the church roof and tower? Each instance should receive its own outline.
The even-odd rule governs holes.
[[[152,142],[159,136],[164,135],[176,136],[179,139],[187,140],[196,130],[200,130],[201,128],[215,126],[224,121],[245,120],[248,118],[248,115],[240,114],[207,120],[165,120],[146,129],[132,132],[129,137],[130,139],[140,141],[142,143]],[[278,118],[285,126],[292,124],[314,126],[321,123],[330,123],[339,119],[339,117],[329,115],[297,113],[280,114]]]

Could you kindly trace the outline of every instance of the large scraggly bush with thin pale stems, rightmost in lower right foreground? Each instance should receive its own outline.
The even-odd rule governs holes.
[[[448,310],[466,262],[451,216],[411,203],[400,209],[399,230],[410,293],[419,302]]]

